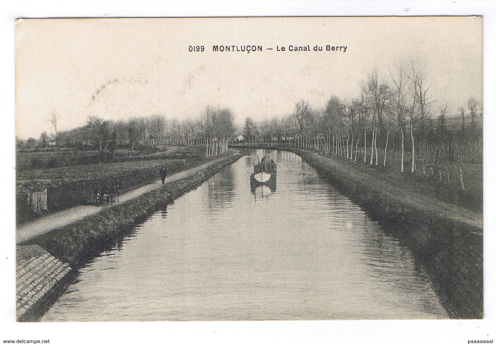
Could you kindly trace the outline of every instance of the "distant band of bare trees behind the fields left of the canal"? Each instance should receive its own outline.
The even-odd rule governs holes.
[[[206,144],[231,139],[235,134],[234,115],[226,108],[207,107],[195,119],[167,119],[163,115],[133,117],[129,120],[109,121],[89,116],[86,125],[55,135],[43,132],[39,140],[17,140],[18,148],[46,148],[63,146],[71,148],[91,147],[99,150],[115,150],[126,147],[159,144]]]

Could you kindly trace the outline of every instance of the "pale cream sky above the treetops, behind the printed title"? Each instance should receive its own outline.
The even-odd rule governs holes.
[[[214,45],[262,51],[214,52]],[[54,112],[58,130],[90,115],[183,119],[207,106],[230,108],[238,124],[289,115],[300,100],[322,108],[332,95],[357,97],[373,68],[388,78],[409,56],[426,62],[433,113],[441,103],[449,115],[470,97],[482,100],[481,17],[22,19],[15,132],[23,139],[54,132],[47,120]]]

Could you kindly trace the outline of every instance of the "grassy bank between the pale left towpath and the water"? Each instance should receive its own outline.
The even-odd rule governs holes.
[[[153,212],[241,155],[229,151],[192,176],[178,179],[130,201],[106,208],[95,216],[52,230],[25,243],[38,244],[55,257],[76,268],[111,245],[115,238]]]

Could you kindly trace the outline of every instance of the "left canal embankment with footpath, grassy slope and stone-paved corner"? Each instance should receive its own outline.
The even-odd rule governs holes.
[[[29,224],[31,228],[27,231],[21,228],[23,235],[18,235],[17,251],[25,254],[18,259],[16,267],[18,320],[36,321],[47,304],[53,302],[61,290],[63,292],[61,286],[65,285],[69,276],[77,274],[81,264],[112,245],[158,207],[170,203],[240,157],[239,151],[229,150],[209,163],[181,172],[176,177],[169,176],[164,185],[157,181],[123,194],[120,203],[103,207],[86,206],[91,214],[77,215],[77,211],[72,211],[76,218],[62,215],[62,222],[55,222],[55,225],[45,224],[41,229],[35,229],[36,224],[33,223]],[[57,266],[54,271],[47,269],[45,258]],[[33,275],[26,275],[26,264],[32,265],[31,272],[42,272],[36,275],[36,283],[25,283],[26,276]],[[44,290],[46,297],[40,297],[40,290]]]

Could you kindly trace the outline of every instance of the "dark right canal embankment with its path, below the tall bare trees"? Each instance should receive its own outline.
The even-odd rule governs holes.
[[[407,237],[454,317],[483,317],[481,213],[391,185],[353,163],[313,151],[288,150],[300,155],[373,219]]]

